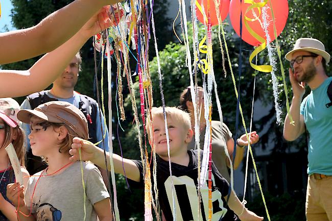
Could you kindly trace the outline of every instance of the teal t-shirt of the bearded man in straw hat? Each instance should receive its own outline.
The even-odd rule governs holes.
[[[312,90],[303,99],[300,107],[300,114],[304,117],[310,136],[307,169],[309,175],[332,175],[332,107],[325,106],[331,102],[327,95],[327,87],[331,81],[332,77],[329,77]]]

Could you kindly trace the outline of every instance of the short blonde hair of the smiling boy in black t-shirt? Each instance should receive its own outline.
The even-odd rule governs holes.
[[[169,118],[171,117],[172,119],[176,120],[177,122],[180,122],[181,125],[183,125],[183,127],[187,130],[192,128],[192,122],[191,122],[191,117],[190,114],[180,110],[176,107],[165,107],[165,113],[166,113],[166,117]],[[163,117],[163,109],[162,107],[153,107],[151,109],[151,117],[152,120],[155,117]],[[150,126],[152,125],[152,122],[150,121],[149,118],[147,118],[147,125],[146,125],[146,129],[148,131],[148,135],[149,138],[151,138],[150,136]]]

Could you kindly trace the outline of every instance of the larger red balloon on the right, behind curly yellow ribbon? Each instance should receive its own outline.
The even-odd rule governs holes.
[[[260,1],[257,1],[255,3],[258,3]],[[271,0],[272,7],[273,7],[273,14],[274,14],[274,21],[275,21],[275,27],[277,30],[277,36],[280,35],[283,28],[286,26],[286,21],[288,18],[288,0]],[[274,31],[273,31],[273,21],[272,21],[272,14],[271,14],[271,5],[270,1],[267,2],[268,9],[266,10],[267,14],[267,24],[268,24],[268,33],[270,36],[270,42],[275,39],[274,37]],[[257,39],[255,39],[247,30],[244,19],[245,19],[245,13],[247,8],[251,6],[251,4],[245,4],[244,0],[241,0],[241,10],[242,10],[242,40],[247,42],[248,44],[251,44],[253,46],[257,46],[261,44]],[[254,9],[255,14],[259,17],[259,20],[263,23],[263,12],[262,8],[260,8],[260,13],[257,8]],[[252,10],[248,11],[247,15],[248,18],[254,18],[254,15],[252,13]],[[236,34],[240,36],[240,0],[231,0],[230,6],[229,6],[229,17],[230,22],[233,26],[233,29],[235,30]],[[266,39],[266,34],[264,29],[260,26],[260,23],[258,20],[255,21],[248,21],[248,24],[250,28],[256,32],[260,37],[263,37]]]

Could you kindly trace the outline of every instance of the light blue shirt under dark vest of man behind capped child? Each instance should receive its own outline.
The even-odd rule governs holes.
[[[58,101],[68,102],[68,103],[74,105],[77,108],[79,107],[79,103],[81,101],[80,95],[77,92],[75,92],[75,91],[74,91],[74,96],[73,97],[69,97],[68,99],[62,99],[60,97],[56,97],[53,94],[51,94],[49,91],[46,91],[46,95],[48,95],[51,98],[55,98]],[[26,100],[23,101],[23,103],[21,104],[21,109],[31,109],[31,105],[30,105],[28,99],[26,99]],[[97,116],[99,116],[99,112],[100,112],[100,108],[98,106],[98,108],[97,108]],[[103,134],[101,132],[101,125],[103,125],[103,129],[105,130],[104,116],[103,116],[103,114],[101,116],[102,116],[102,122],[100,121],[99,117],[97,117],[97,120],[95,122],[95,124],[96,124],[96,132],[97,132],[96,133],[96,139],[98,141],[100,141],[100,140],[103,139]],[[31,133],[31,131],[30,131],[30,125],[22,123],[22,129],[26,133],[26,137],[27,137],[27,151],[28,151],[28,150],[30,150],[30,142],[29,142],[29,138],[28,138],[28,135]],[[106,128],[106,136],[105,136],[104,142],[105,142],[105,151],[108,152],[109,151],[109,145],[108,145],[108,130],[107,130],[107,128]],[[98,146],[99,146],[99,148],[101,148],[101,149],[104,150],[104,148],[103,148],[104,147],[103,142],[99,143]]]

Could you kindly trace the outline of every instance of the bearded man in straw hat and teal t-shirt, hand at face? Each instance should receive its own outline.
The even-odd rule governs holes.
[[[330,55],[319,40],[300,38],[295,42],[293,50],[286,54],[286,59],[290,61],[292,67],[289,69],[293,89],[290,114],[294,124],[287,114],[283,137],[293,141],[305,130],[310,136],[306,219],[332,221],[332,146],[330,143],[332,107],[329,108],[332,99],[327,92],[332,89],[332,78],[326,75],[326,64],[330,61]],[[305,84],[310,87],[311,92],[302,101]]]

